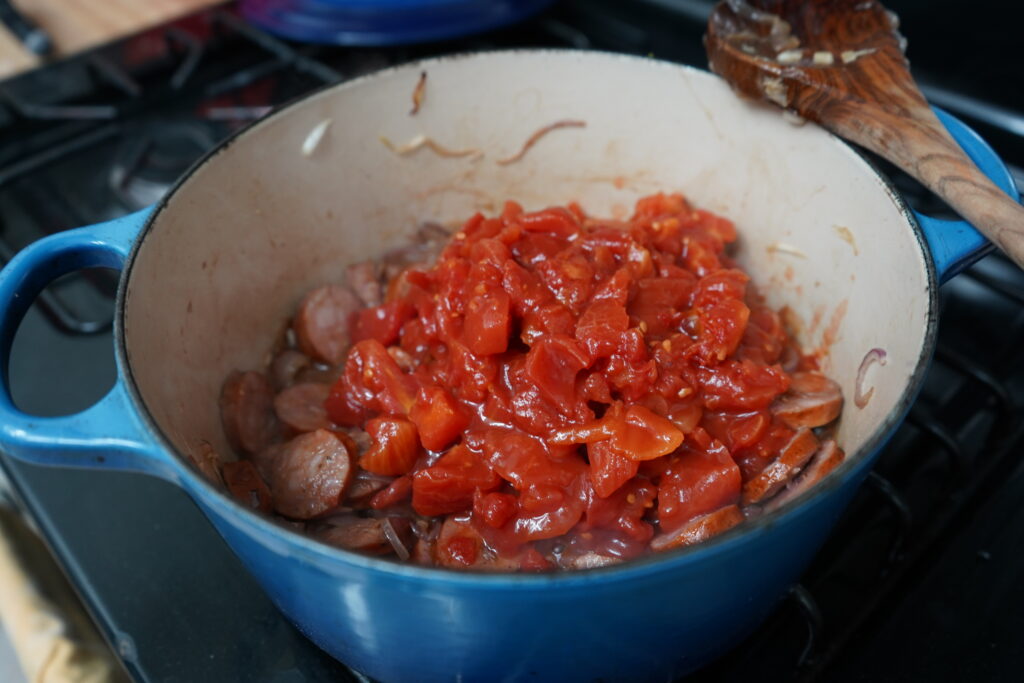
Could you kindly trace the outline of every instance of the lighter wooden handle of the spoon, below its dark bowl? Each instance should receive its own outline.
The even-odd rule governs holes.
[[[873,114],[872,126],[837,126],[843,128],[837,132],[916,178],[1024,268],[1024,207],[975,166],[935,114],[927,108],[909,117]]]

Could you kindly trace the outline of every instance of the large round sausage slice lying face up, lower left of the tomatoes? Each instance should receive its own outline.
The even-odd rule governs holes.
[[[273,463],[273,507],[293,519],[309,519],[338,506],[352,474],[352,459],[341,439],[327,431],[300,434],[285,444]]]

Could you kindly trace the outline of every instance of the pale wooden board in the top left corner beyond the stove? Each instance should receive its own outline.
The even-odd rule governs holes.
[[[188,14],[223,0],[13,0],[49,33],[52,57],[72,54]],[[0,26],[0,79],[41,65]]]

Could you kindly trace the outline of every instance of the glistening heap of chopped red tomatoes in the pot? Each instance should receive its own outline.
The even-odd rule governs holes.
[[[778,467],[758,478],[766,467],[816,447],[808,428],[827,416],[798,425],[790,403],[812,382],[830,407],[841,396],[799,372],[816,361],[736,266],[735,240],[673,194],[628,220],[515,202],[471,216],[433,263],[381,283],[384,304],[345,318],[353,343],[325,408],[362,451],[366,490],[347,500],[415,530],[414,561],[460,569],[592,566],[739,523],[785,483],[765,483]],[[224,474],[271,504],[258,474]]]

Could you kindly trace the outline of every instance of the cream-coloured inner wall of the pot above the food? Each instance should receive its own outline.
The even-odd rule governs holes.
[[[425,98],[410,115],[421,71]],[[539,128],[579,120],[542,137]],[[325,130],[326,127],[326,130]],[[315,142],[317,132],[323,132]],[[453,151],[396,154],[426,135]],[[382,72],[254,126],[185,179],[131,267],[124,333],[153,417],[184,452],[227,459],[218,394],[260,368],[309,288],[399,245],[424,220],[452,223],[577,201],[626,216],[682,191],[735,221],[736,256],[847,397],[840,443],[856,452],[900,401],[926,341],[928,268],[899,204],[849,147],[813,125],[741,101],[718,78],[651,59],[573,51],[481,53]],[[857,369],[872,348],[866,408]]]

